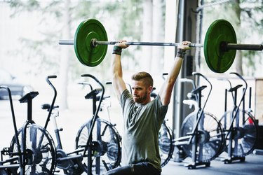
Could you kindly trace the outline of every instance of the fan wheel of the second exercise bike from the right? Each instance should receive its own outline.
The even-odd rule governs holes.
[[[193,132],[196,124],[196,115],[187,116],[182,123],[182,137],[187,136],[188,133]],[[210,113],[204,113],[200,122],[198,123],[198,137],[197,137],[197,161],[210,162],[217,158],[221,153],[224,144],[224,134],[221,124],[217,121],[215,116]],[[194,139],[189,145],[183,145],[185,153],[191,158],[193,156],[192,147]]]

